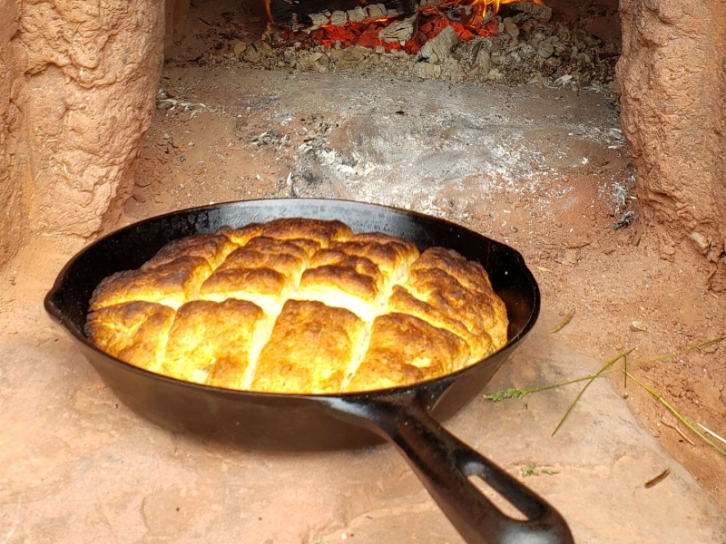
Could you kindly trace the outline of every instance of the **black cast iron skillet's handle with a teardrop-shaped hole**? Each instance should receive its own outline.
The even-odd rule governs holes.
[[[363,415],[393,442],[446,517],[468,544],[572,544],[570,529],[557,510],[446,431],[418,403],[376,402],[338,410]],[[358,409],[357,409],[358,408]],[[364,415],[365,413],[365,415]],[[526,520],[500,510],[468,480],[478,476]]]

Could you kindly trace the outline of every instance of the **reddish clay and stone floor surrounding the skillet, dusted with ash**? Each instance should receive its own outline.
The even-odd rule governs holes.
[[[136,184],[106,230],[210,202],[323,197],[416,209],[505,240],[535,271],[543,313],[487,393],[721,332],[705,274],[688,276],[692,265],[660,238],[635,246],[637,219],[613,229],[630,220],[633,171],[617,112],[598,94],[200,67],[165,70],[162,88]],[[390,447],[239,451],[172,435],[118,403],[40,302],[81,245],[38,238],[0,277],[5,541],[461,542]],[[723,431],[723,349],[665,363],[678,374],[638,375]],[[579,388],[480,397],[446,426],[541,492],[577,541],[722,542],[723,504],[711,498],[723,500],[722,458],[684,442],[636,385],[625,395],[622,378],[595,381],[551,437]]]

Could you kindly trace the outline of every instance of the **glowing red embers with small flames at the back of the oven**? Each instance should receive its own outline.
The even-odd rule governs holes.
[[[403,50],[416,54],[447,26],[454,29],[462,42],[475,36],[495,34],[493,17],[500,5],[521,0],[445,0],[441,4],[437,4],[437,0],[424,0],[413,17],[404,17],[396,11],[387,13],[384,5],[367,5],[365,0],[359,1],[364,7],[348,11],[348,15],[342,11],[309,15],[309,24],[293,24],[293,28],[283,30],[280,37],[286,43],[320,44],[324,47],[339,43],[343,48],[360,45],[370,49],[383,47],[387,52]],[[544,5],[541,0],[532,1]],[[265,0],[265,5],[270,21],[273,21],[270,0]],[[371,17],[371,14],[377,16]],[[354,15],[357,15],[358,21]]]

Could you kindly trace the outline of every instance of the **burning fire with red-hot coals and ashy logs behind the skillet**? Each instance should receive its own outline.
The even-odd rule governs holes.
[[[547,9],[541,0],[423,0],[420,5],[406,5],[400,0],[375,5],[359,2],[363,5],[332,11],[319,11],[317,2],[306,5],[304,1],[289,4],[287,0],[266,0],[265,4],[270,22],[284,28],[279,34],[283,44],[359,45],[434,59],[458,42],[496,34],[494,15],[500,5],[527,5],[523,11]]]

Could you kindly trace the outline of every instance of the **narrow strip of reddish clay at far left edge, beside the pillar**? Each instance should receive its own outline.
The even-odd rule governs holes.
[[[20,69],[11,53],[11,40],[17,32],[17,2],[0,0],[0,265],[12,257],[22,240],[25,213],[23,183],[17,156],[17,109],[11,101],[13,85]],[[11,165],[16,168],[11,169]]]

